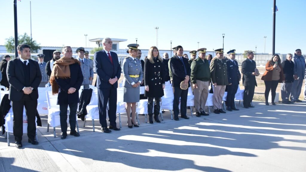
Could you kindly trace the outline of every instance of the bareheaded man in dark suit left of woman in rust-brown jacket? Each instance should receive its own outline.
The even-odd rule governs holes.
[[[242,62],[241,65],[241,73],[242,84],[244,86],[244,94],[243,94],[243,107],[249,108],[252,106],[252,100],[254,96],[255,86],[257,87],[255,76],[258,76],[255,72],[256,62],[253,61],[254,53],[252,51],[247,52],[247,59]]]

